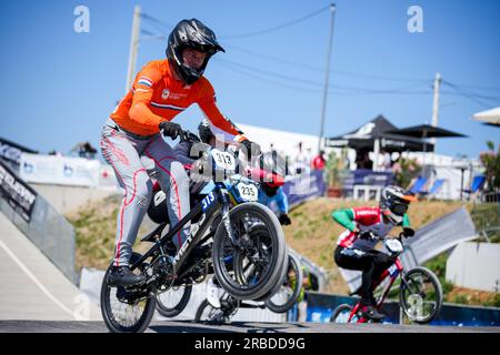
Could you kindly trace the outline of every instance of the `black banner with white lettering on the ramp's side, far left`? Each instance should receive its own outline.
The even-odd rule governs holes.
[[[37,192],[0,161],[0,195],[27,222],[31,220]]]

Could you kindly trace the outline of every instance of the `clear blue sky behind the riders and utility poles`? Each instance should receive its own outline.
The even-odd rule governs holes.
[[[500,105],[499,1],[336,3],[327,136],[380,113],[400,128],[430,123],[431,84],[440,72],[459,91],[442,85],[439,125],[469,138],[439,140],[438,153],[472,158],[487,140],[499,143],[499,129],[471,120]],[[73,31],[79,4],[90,9],[89,33]],[[166,23],[143,19],[149,32],[168,36],[193,17],[214,30],[227,53],[213,57],[206,75],[233,121],[319,133],[328,10],[262,36],[231,36],[299,19],[329,1],[18,0],[2,2],[0,136],[41,152],[68,152],[87,140],[98,146],[100,128],[124,93],[134,4]],[[422,33],[407,30],[412,4],[423,10]],[[164,47],[143,38],[137,70],[163,58]],[[193,129],[200,118],[192,106],[176,121]]]

